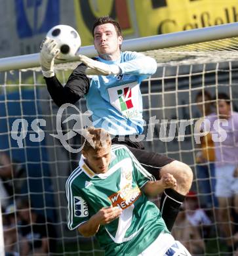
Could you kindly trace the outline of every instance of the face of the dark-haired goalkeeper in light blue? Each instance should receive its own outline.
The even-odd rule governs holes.
[[[115,26],[111,23],[102,24],[94,28],[94,47],[101,58],[106,60],[119,58],[122,41],[123,38],[117,35]]]

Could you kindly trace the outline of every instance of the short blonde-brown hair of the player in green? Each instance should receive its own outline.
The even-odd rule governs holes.
[[[83,131],[84,145],[83,151],[87,152],[90,149],[95,151],[101,148],[111,146],[111,137],[109,133],[102,128],[89,127]]]

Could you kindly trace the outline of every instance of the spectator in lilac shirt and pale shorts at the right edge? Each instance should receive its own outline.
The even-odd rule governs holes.
[[[232,247],[232,205],[235,206],[235,214],[238,213],[238,113],[232,111],[229,96],[225,93],[219,93],[217,100],[219,119],[210,116],[208,120],[216,153],[218,218],[226,244]]]

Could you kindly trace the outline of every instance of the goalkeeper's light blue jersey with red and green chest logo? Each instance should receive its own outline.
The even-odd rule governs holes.
[[[120,75],[93,75],[86,95],[87,108],[92,111],[95,127],[111,135],[138,135],[143,132],[142,95],[140,83],[155,73],[157,63],[149,56],[123,52],[118,60],[96,60],[117,64]]]

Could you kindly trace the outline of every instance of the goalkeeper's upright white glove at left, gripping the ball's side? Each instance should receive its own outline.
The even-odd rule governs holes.
[[[50,37],[45,37],[41,43],[40,63],[42,74],[45,77],[54,76],[54,58],[60,53],[60,49],[56,46],[56,41]]]

